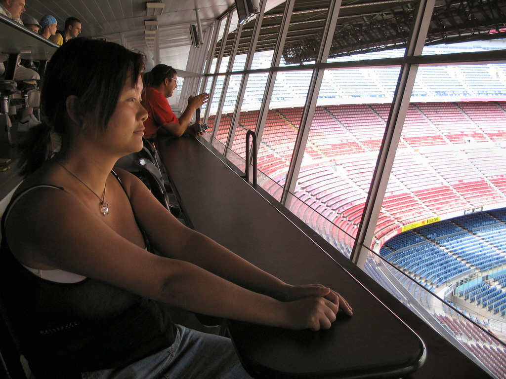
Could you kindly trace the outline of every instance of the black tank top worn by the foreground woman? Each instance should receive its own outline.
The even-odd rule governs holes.
[[[5,238],[14,201],[2,219],[0,307],[37,379],[80,378],[80,372],[122,367],[172,345],[167,305],[92,278],[58,283],[23,267]]]

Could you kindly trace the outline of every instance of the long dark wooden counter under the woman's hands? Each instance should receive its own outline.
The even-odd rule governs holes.
[[[323,283],[353,307],[352,317],[341,315],[316,333],[231,322],[232,339],[252,375],[490,377],[346,257],[327,254],[309,238],[309,227],[290,221],[205,141],[162,138],[158,149],[194,229],[288,283]],[[406,375],[424,360],[418,336],[427,346],[426,361]]]

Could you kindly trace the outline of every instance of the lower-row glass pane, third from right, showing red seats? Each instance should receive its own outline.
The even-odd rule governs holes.
[[[278,72],[258,152],[258,168],[284,185],[312,71]]]

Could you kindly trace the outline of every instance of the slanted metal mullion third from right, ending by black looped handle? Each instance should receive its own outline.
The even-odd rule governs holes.
[[[276,41],[276,48],[274,49],[274,54],[272,55],[271,68],[269,71],[269,76],[267,77],[267,83],[264,91],[264,101],[262,102],[262,107],[260,108],[260,114],[257,121],[257,129],[255,130],[259,145],[262,141],[265,121],[267,120],[269,105],[271,104],[272,91],[274,89],[274,83],[276,82],[276,71],[274,71],[273,68],[279,64],[279,60],[281,59],[286,35],[288,33],[288,27],[290,26],[291,13],[293,11],[294,4],[295,0],[286,0],[283,18],[280,25],[279,38]]]

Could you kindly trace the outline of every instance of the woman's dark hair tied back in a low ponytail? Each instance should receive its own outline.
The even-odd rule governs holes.
[[[101,133],[107,127],[125,83],[135,87],[144,70],[144,59],[142,54],[114,42],[72,38],[64,43],[49,61],[41,85],[43,123],[31,128],[20,146],[22,175],[35,171],[50,158],[48,147],[52,130],[61,136],[62,152],[65,151],[69,96],[77,97],[76,117],[81,126],[93,127]]]

